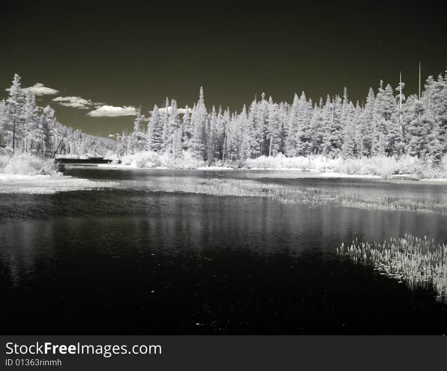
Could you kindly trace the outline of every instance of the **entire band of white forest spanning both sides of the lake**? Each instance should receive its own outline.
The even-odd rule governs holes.
[[[168,98],[155,105],[148,120],[141,112],[131,133],[116,141],[88,136],[62,126],[51,107],[39,108],[31,91],[23,91],[14,76],[9,96],[0,101],[0,148],[51,156],[57,153],[98,153],[118,156],[144,150],[179,157],[188,150],[208,164],[244,162],[260,156],[288,157],[323,154],[327,158],[362,158],[410,154],[436,166],[447,153],[447,78],[426,80],[421,95],[403,94],[380,81],[362,104],[327,96],[313,104],[304,92],[292,104],[275,102],[265,94],[247,108],[230,112],[205,105],[203,88],[193,108],[178,108]],[[145,122],[147,121],[147,126]]]

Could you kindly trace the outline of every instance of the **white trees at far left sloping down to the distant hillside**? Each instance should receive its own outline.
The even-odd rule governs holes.
[[[39,107],[34,92],[22,89],[20,76],[15,74],[8,98],[0,101],[0,150],[41,157],[106,156],[116,151],[116,142],[59,123],[54,110],[49,105]]]

